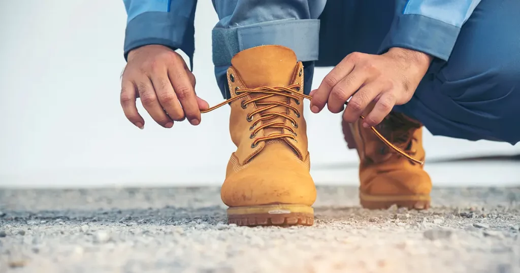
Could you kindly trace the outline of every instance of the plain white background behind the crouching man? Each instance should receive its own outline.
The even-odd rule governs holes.
[[[211,63],[216,21],[209,1],[199,1],[194,73],[198,94],[211,105],[222,100]],[[145,129],[126,121],[119,105],[125,22],[119,0],[0,2],[0,186],[222,183],[235,149],[227,107],[203,114],[196,127],[183,122],[162,128],[140,105]],[[315,86],[327,71],[316,71]],[[316,182],[357,183],[357,154],[346,149],[340,116],[306,111]],[[520,145],[427,132],[424,144],[430,160],[520,153]],[[520,182],[515,162],[435,163],[426,169],[435,185]]]

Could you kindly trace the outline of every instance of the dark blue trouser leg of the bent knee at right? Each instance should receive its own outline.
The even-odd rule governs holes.
[[[396,109],[434,135],[520,141],[520,1],[483,0],[446,63],[432,64]]]

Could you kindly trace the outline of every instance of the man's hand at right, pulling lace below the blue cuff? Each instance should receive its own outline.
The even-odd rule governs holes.
[[[327,104],[331,112],[339,113],[352,97],[343,119],[353,123],[374,101],[363,126],[377,125],[395,105],[411,99],[431,61],[429,55],[397,47],[382,55],[349,54],[311,92],[311,111],[318,113]]]

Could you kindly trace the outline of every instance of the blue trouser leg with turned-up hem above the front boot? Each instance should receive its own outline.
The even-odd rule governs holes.
[[[229,98],[226,71],[241,50],[282,45],[304,62],[304,92],[310,92],[318,59],[319,20],[326,0],[213,0],[219,22],[213,29],[215,77]]]

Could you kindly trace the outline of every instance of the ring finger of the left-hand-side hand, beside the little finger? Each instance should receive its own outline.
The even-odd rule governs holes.
[[[157,95],[155,95],[155,90],[149,77],[141,75],[138,80],[136,80],[136,85],[142,106],[150,114],[152,119],[165,128],[173,127],[173,120],[164,112]]]

